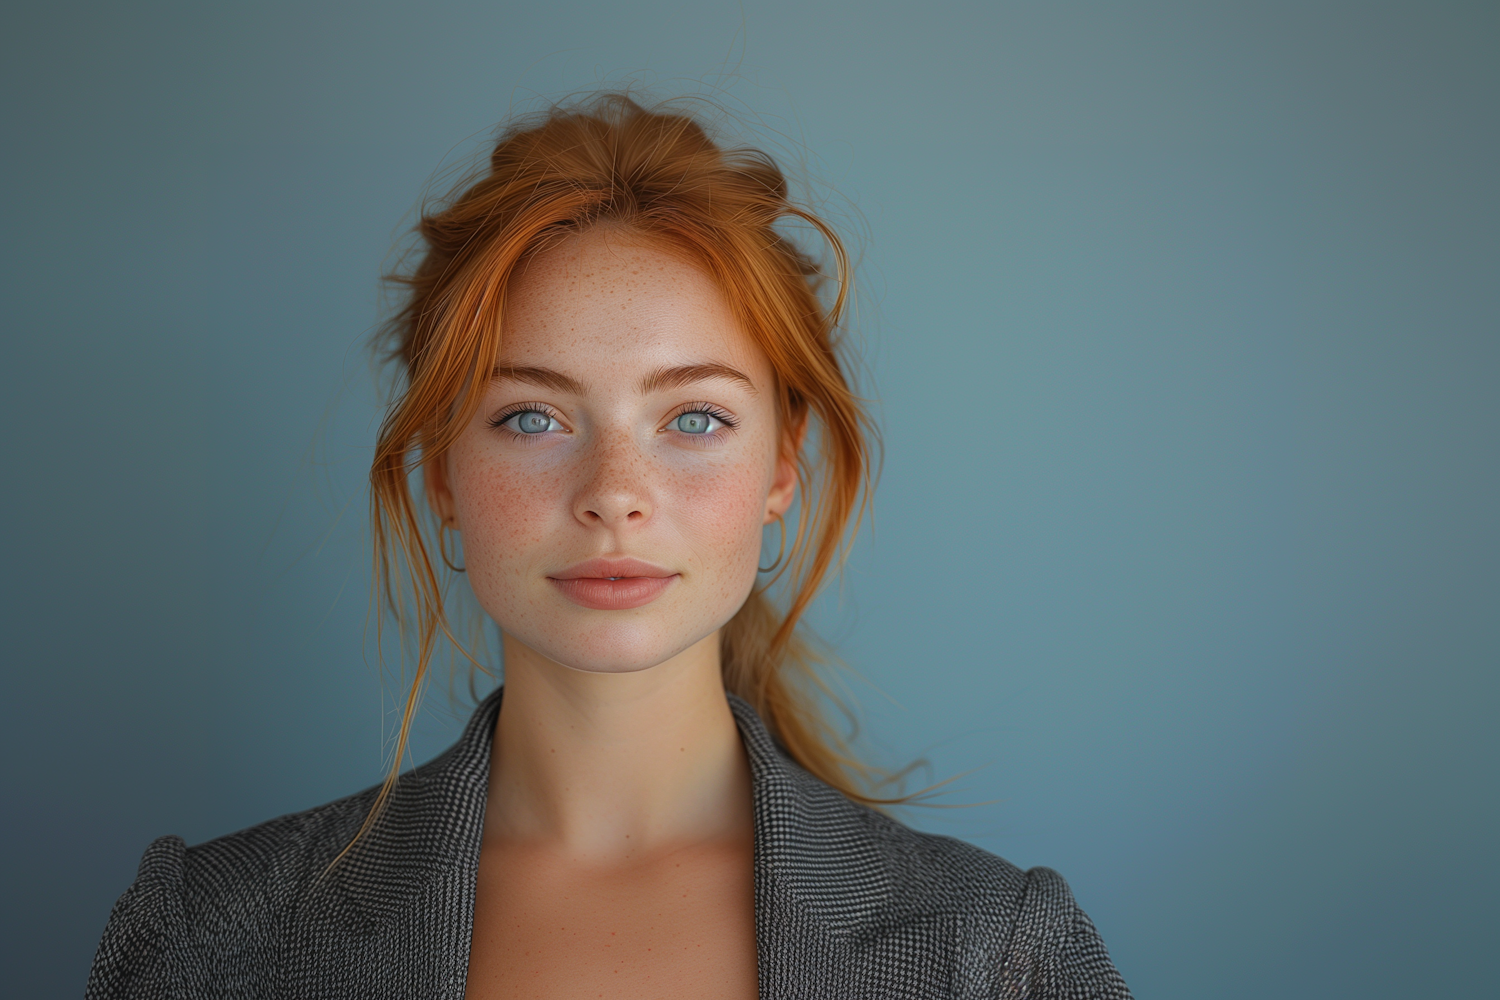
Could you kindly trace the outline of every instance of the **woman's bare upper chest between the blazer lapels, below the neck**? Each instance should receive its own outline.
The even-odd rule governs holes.
[[[480,853],[468,1000],[753,1000],[752,846],[590,864]]]

